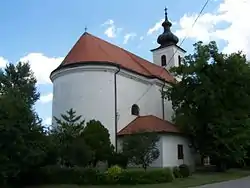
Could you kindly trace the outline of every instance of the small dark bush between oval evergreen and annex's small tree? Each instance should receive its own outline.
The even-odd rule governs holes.
[[[128,158],[123,153],[113,153],[108,159],[108,166],[118,165],[122,168],[127,168]]]

